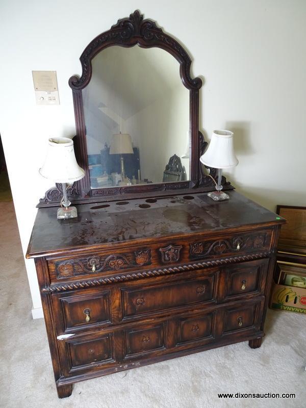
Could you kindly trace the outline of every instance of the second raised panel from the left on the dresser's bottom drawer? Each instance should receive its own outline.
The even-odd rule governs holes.
[[[166,323],[123,330],[124,358],[165,348]]]

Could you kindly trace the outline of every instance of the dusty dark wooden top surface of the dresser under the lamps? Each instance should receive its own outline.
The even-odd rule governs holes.
[[[103,246],[232,228],[283,223],[284,219],[236,191],[213,201],[207,193],[77,206],[78,218],[58,220],[58,207],[38,210],[27,258]]]

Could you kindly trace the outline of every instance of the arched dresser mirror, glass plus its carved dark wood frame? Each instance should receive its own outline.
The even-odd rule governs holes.
[[[75,156],[85,177],[68,189],[73,202],[214,188],[199,163],[206,146],[198,126],[202,81],[191,77],[179,42],[135,11],[93,39],[80,61],[82,75],[69,85]],[[166,168],[173,156],[182,167],[176,177]],[[60,188],[38,206],[57,205]]]

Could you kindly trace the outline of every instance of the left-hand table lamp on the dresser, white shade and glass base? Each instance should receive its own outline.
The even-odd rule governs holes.
[[[63,185],[61,208],[57,212],[58,219],[77,217],[77,209],[69,207],[71,202],[67,198],[66,184],[83,179],[85,171],[75,160],[73,141],[66,137],[50,138],[47,156],[43,166],[39,169],[39,173],[46,179]]]

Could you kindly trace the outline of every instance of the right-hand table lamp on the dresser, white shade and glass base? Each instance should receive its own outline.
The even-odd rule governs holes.
[[[221,177],[222,169],[237,166],[238,160],[234,152],[233,132],[213,131],[210,145],[206,152],[200,157],[200,162],[205,166],[218,169],[218,183],[216,190],[208,193],[208,196],[215,201],[227,200],[230,198],[222,190]]]

